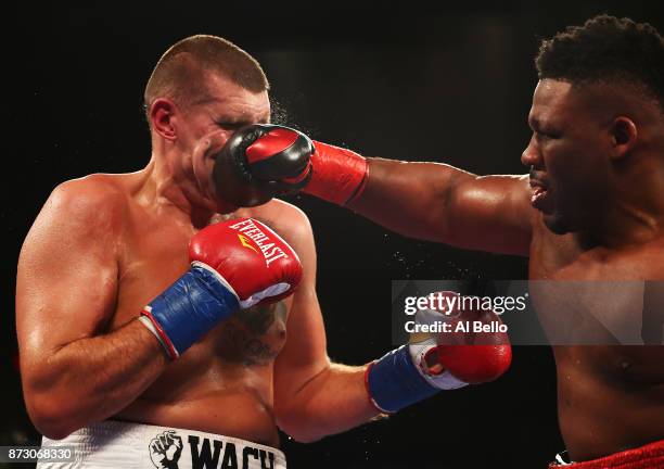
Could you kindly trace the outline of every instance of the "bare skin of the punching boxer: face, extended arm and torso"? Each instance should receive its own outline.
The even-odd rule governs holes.
[[[444,164],[369,159],[367,188],[349,206],[405,236],[528,256],[532,280],[664,280],[659,105],[625,87],[599,84],[580,92],[545,79],[528,123],[533,138],[522,161],[532,167],[531,183],[527,175],[478,177]],[[576,306],[585,318],[611,313],[640,321],[635,305],[642,304],[643,289],[620,290],[617,297],[593,294]],[[535,302],[549,334],[574,324],[559,303]],[[664,439],[664,346],[559,345],[553,352],[560,427],[573,460]]]

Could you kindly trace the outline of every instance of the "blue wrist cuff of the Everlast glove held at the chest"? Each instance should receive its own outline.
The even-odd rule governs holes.
[[[193,264],[141,314],[150,319],[168,355],[175,359],[235,312],[239,304],[235,292],[217,272]]]

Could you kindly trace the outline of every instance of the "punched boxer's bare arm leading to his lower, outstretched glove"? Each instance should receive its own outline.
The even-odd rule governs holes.
[[[316,250],[311,228],[302,213],[293,245],[304,278],[293,294],[288,340],[274,365],[274,410],[279,427],[297,441],[310,442],[357,427],[379,413],[365,388],[366,366],[330,362],[316,295]]]

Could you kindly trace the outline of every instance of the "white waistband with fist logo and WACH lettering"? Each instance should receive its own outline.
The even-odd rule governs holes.
[[[37,469],[285,469],[279,449],[193,430],[106,420],[42,447],[67,446],[73,462],[38,462]]]

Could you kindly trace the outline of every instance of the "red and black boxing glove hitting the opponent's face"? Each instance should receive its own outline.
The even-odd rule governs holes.
[[[254,124],[237,130],[217,154],[217,198],[237,206],[259,205],[299,190],[344,205],[367,182],[367,160],[350,150],[312,142],[289,127]]]

